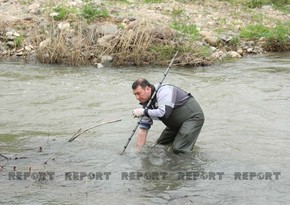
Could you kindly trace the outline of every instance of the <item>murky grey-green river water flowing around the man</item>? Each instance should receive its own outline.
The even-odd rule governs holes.
[[[206,116],[193,153],[153,147],[155,121],[143,150],[134,136],[120,155],[138,121],[131,83],[164,71],[1,62],[0,203],[287,204],[290,53],[173,67],[165,81]]]

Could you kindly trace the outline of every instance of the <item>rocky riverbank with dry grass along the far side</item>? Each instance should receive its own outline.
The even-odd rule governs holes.
[[[123,2],[91,2],[88,8],[107,13],[88,21],[80,17],[88,5],[81,0],[0,0],[0,58],[69,65],[166,65],[179,50],[176,65],[203,66],[280,51],[269,47],[264,36],[242,39],[240,32],[247,25],[273,28],[290,19],[289,13],[272,5],[250,9],[214,0]],[[57,19],[61,10],[55,8],[70,12]],[[290,33],[284,35],[282,50],[288,50]]]

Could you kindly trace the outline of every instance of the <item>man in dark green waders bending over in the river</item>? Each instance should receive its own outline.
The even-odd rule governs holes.
[[[176,154],[191,152],[204,123],[203,111],[192,95],[173,85],[161,85],[146,108],[156,87],[141,78],[134,81],[132,89],[143,106],[133,110],[134,117],[143,116],[137,133],[137,147],[146,143],[153,120],[161,120],[166,128],[157,144],[172,144]]]

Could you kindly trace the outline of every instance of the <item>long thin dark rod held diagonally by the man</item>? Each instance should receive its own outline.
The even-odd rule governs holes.
[[[178,51],[175,53],[175,55],[174,55],[173,58],[171,59],[171,61],[170,61],[169,65],[168,65],[168,67],[167,67],[165,73],[163,74],[163,78],[162,78],[162,80],[159,82],[159,85],[158,85],[157,89],[155,89],[153,95],[151,96],[151,98],[150,98],[150,100],[149,100],[149,102],[147,103],[147,105],[146,105],[145,108],[148,108],[148,107],[151,105],[152,100],[154,99],[156,93],[158,92],[159,88],[161,87],[163,81],[165,80],[165,78],[166,78],[166,76],[167,76],[167,74],[168,74],[168,72],[169,72],[169,70],[170,70],[172,64],[174,63],[177,54],[178,54]],[[143,119],[143,117],[141,117],[141,119],[138,121],[137,125],[136,125],[135,128],[133,129],[132,134],[131,134],[131,136],[128,138],[127,144],[124,146],[124,149],[123,149],[121,155],[122,155],[122,154],[125,152],[125,150],[127,149],[128,145],[129,145],[130,141],[132,140],[132,138],[133,138],[133,136],[134,136],[136,130],[138,129],[139,124],[141,123],[142,119]]]

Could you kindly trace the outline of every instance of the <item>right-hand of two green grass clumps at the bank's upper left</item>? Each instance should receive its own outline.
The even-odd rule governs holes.
[[[107,9],[98,8],[93,3],[86,3],[81,9],[81,16],[92,21],[95,18],[107,18],[109,13]]]

